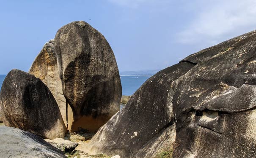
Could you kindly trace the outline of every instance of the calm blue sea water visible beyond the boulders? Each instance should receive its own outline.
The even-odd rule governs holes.
[[[6,75],[0,75],[0,89],[5,77]],[[150,76],[121,76],[122,95],[132,95],[148,78],[150,78]]]

